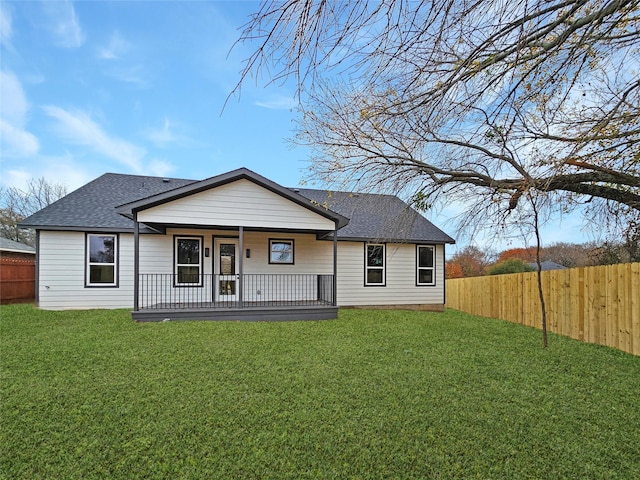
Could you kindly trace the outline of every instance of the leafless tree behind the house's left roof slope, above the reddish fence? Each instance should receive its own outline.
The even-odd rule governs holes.
[[[24,190],[0,188],[0,234],[9,240],[34,245],[33,230],[18,227],[18,222],[66,194],[67,187],[50,183],[44,177],[29,180]]]

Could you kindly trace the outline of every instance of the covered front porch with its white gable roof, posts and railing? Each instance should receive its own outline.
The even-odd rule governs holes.
[[[134,224],[136,320],[337,317],[349,219],[295,190],[239,169],[117,211]]]

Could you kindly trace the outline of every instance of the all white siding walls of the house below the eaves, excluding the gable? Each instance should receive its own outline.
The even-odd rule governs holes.
[[[204,259],[204,273],[214,273],[214,238],[237,237],[237,232],[222,230],[169,229],[166,235],[140,236],[140,273],[173,273],[174,236],[203,237],[203,248],[210,255]],[[294,240],[293,265],[269,264],[269,239]],[[386,286],[364,286],[364,243],[338,243],[338,305],[402,305],[444,303],[444,249],[436,246],[436,285],[415,285],[415,245],[389,244],[386,249]],[[243,255],[246,274],[310,274],[333,273],[333,244],[318,241],[315,235],[245,232]],[[117,288],[85,288],[85,234],[81,232],[41,232],[39,253],[39,300],[43,309],[89,309],[133,307],[133,235],[119,235],[119,286]],[[246,249],[251,251],[246,258]],[[263,280],[260,280],[263,281]],[[308,292],[315,295],[315,284],[309,280]],[[281,287],[281,285],[275,285]],[[273,285],[254,284],[246,288],[247,299],[274,294]],[[209,287],[210,288],[210,287]],[[181,289],[181,294],[188,294]],[[264,291],[263,291],[264,290]]]

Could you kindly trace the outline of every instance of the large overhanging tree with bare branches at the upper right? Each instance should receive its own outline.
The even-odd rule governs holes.
[[[530,218],[530,191],[624,227],[640,218],[639,38],[638,0],[264,1],[237,88],[295,76],[312,178],[461,202],[465,227]]]

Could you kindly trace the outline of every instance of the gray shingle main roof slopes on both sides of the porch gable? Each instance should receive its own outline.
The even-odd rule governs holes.
[[[196,182],[106,173],[26,218],[21,225],[42,230],[133,231],[133,221],[117,213],[116,207]],[[392,195],[291,190],[310,199],[315,206],[322,206],[350,219],[349,224],[339,230],[339,239],[454,242],[450,236]],[[141,231],[144,229],[141,228]]]

